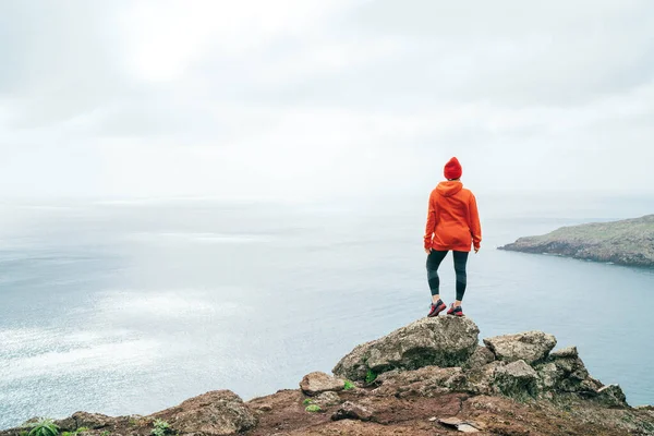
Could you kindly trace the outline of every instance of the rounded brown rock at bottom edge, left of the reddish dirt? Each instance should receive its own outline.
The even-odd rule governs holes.
[[[215,390],[161,411],[172,431],[180,435],[223,436],[253,428],[256,416],[231,390]]]

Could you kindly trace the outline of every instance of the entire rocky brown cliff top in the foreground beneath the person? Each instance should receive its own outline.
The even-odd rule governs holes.
[[[541,331],[483,343],[470,318],[424,318],[355,347],[336,376],[307,374],[300,389],[247,402],[213,391],[149,416],[77,412],[57,424],[88,436],[157,426],[157,435],[211,436],[654,435],[654,410],[630,408],[619,386],[591,377],[577,348],[553,352],[556,338]]]

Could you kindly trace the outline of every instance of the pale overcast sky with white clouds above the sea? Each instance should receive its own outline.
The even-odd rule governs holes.
[[[0,1],[0,196],[654,193],[654,1]]]

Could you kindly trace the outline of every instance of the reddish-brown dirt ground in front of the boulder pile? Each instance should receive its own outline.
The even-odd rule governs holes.
[[[654,435],[654,412],[633,409],[608,410],[581,402],[576,408],[555,407],[549,402],[518,403],[507,398],[470,397],[444,393],[436,398],[374,397],[362,392],[340,392],[344,401],[374,411],[371,422],[331,421],[339,405],[310,413],[303,404],[307,397],[300,390],[282,390],[251,400],[259,424],[247,436],[300,435],[455,435],[459,432],[438,423],[438,419],[458,417],[484,428],[477,435],[538,436]],[[569,409],[569,410],[566,410]],[[652,426],[628,428],[623,424],[645,420]]]

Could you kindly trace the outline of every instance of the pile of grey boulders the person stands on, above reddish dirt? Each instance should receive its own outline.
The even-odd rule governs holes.
[[[626,405],[617,388],[602,391],[576,347],[555,351],[556,338],[526,331],[484,339],[469,318],[426,318],[356,347],[334,372],[361,380],[379,374],[374,396],[437,397],[447,392],[507,396],[520,400],[574,395]],[[422,354],[421,358],[416,358]],[[370,377],[368,377],[370,378]]]

